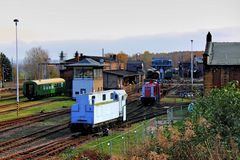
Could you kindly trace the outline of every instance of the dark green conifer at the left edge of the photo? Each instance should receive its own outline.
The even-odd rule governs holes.
[[[12,65],[3,53],[0,53],[0,78],[3,81],[12,80]]]

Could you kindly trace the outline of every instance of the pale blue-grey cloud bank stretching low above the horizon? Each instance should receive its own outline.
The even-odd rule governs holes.
[[[146,50],[154,53],[186,51],[191,49],[190,40],[193,39],[193,50],[204,50],[207,32],[210,31],[213,41],[216,42],[240,42],[240,27],[199,30],[186,33],[166,33],[159,35],[145,35],[126,37],[117,40],[66,40],[66,41],[45,41],[45,42],[19,42],[19,58],[25,57],[27,50],[32,47],[41,46],[49,52],[50,58],[59,59],[61,51],[67,54],[67,58],[72,58],[78,51],[86,55],[101,55],[102,48],[106,53],[118,53],[123,51],[128,54],[144,52]],[[5,53],[9,59],[15,59],[15,42],[0,44],[1,52]]]

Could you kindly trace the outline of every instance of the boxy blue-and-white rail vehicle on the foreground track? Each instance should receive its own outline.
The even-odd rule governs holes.
[[[71,107],[71,131],[89,133],[109,124],[126,121],[124,90],[107,90],[82,94]]]

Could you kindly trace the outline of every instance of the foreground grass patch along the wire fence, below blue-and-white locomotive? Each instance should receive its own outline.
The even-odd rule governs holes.
[[[84,150],[98,150],[100,153],[121,155],[128,150],[131,145],[143,142],[145,128],[148,121],[132,125],[126,131],[114,131],[107,137],[100,137],[94,141],[83,144],[74,149],[67,149],[60,157],[61,159],[72,159]]]

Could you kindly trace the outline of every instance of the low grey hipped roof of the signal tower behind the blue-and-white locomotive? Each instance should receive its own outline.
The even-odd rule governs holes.
[[[66,65],[67,67],[103,67],[103,64],[91,59],[85,58],[78,63]]]

